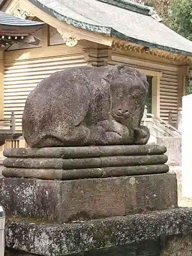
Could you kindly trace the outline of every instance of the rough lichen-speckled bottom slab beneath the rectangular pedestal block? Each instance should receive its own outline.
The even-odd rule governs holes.
[[[97,252],[97,255],[105,255],[110,251],[115,256],[132,256],[129,252],[133,252],[133,256],[160,256],[160,246],[163,246],[163,256],[190,256],[191,215],[192,208],[178,208],[62,225],[38,223],[35,220],[7,219],[6,244],[8,248],[44,256],[64,256],[73,253],[79,253],[79,256],[93,256]],[[171,237],[178,234],[184,236]],[[163,237],[166,243],[160,245],[160,237]],[[134,242],[138,243],[135,251],[131,247]],[[127,246],[124,253],[123,245]],[[103,250],[94,251],[97,249]],[[122,254],[115,254],[118,249]],[[18,254],[20,255],[22,254]]]

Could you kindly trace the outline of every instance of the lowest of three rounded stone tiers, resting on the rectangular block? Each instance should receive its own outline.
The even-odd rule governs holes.
[[[31,169],[31,168],[4,168],[3,175],[7,178],[28,178],[42,180],[75,180],[88,178],[108,178],[131,175],[163,174],[168,172],[168,165],[138,165],[101,167],[86,169]]]

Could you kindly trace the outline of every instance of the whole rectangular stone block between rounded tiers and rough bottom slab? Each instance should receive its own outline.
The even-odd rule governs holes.
[[[71,181],[4,178],[0,191],[8,216],[57,223],[177,207],[175,174]]]

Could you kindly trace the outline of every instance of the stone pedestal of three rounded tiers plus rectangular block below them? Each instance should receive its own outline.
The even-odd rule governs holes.
[[[57,223],[175,208],[177,180],[167,173],[165,151],[159,145],[8,149],[3,175],[11,178],[0,183],[0,201],[8,216]]]

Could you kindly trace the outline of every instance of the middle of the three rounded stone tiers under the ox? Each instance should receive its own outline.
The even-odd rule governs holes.
[[[6,158],[5,167],[13,168],[54,168],[54,169],[83,169],[83,168],[101,168],[116,166],[137,166],[150,164],[164,164],[167,161],[166,155],[156,156],[114,156],[97,158]]]

